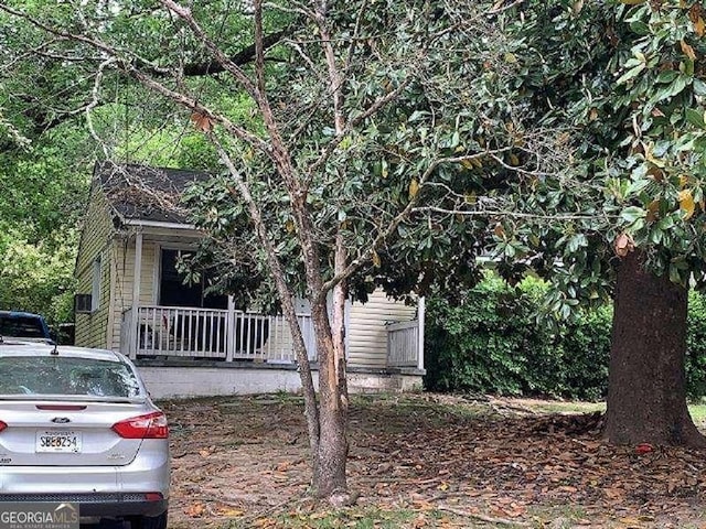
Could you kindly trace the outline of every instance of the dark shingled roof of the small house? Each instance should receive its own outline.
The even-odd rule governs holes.
[[[136,163],[105,161],[94,168],[94,184],[100,185],[120,224],[186,224],[186,212],[179,204],[181,194],[194,182],[208,179],[201,171]]]

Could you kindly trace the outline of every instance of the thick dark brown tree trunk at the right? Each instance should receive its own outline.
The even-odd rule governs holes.
[[[686,408],[687,290],[642,269],[618,270],[605,436],[616,444],[706,446]]]

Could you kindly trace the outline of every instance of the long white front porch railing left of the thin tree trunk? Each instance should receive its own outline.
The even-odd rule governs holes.
[[[122,313],[120,350],[131,358],[184,357],[293,363],[291,333],[282,315],[143,305]],[[298,314],[309,359],[317,348],[310,314]],[[137,324],[135,323],[137,322]]]

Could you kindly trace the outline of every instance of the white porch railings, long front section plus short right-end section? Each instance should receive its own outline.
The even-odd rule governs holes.
[[[385,368],[424,369],[424,313],[413,321],[384,326]],[[315,365],[317,343],[311,314],[298,313],[309,360]],[[422,327],[424,328],[424,327]],[[285,316],[235,310],[138,305],[122,311],[120,352],[142,360],[205,360],[296,365]]]

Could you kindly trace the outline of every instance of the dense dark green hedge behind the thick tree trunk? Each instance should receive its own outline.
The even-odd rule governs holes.
[[[436,391],[598,400],[608,389],[612,307],[584,310],[568,322],[542,321],[548,287],[510,287],[495,276],[460,305],[427,301],[426,387]],[[689,398],[706,395],[706,298],[689,295]]]

